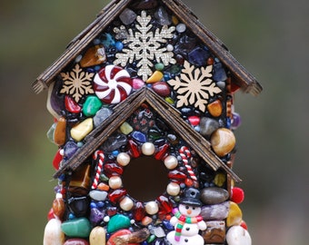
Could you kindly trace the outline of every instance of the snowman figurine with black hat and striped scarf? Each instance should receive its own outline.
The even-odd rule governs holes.
[[[199,215],[202,206],[199,197],[200,192],[194,188],[184,191],[184,198],[178,209],[173,210],[174,216],[170,220],[174,230],[166,236],[171,245],[204,245],[204,239],[198,232],[206,230],[207,226]]]

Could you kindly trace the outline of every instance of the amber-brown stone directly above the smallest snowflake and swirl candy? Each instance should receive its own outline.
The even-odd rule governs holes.
[[[103,64],[106,61],[105,47],[103,45],[95,45],[90,47],[83,58],[79,62],[82,67],[94,66]]]

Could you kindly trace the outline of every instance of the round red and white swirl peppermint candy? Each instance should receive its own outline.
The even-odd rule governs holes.
[[[132,91],[130,74],[122,67],[109,64],[95,74],[96,96],[104,103],[120,103]]]

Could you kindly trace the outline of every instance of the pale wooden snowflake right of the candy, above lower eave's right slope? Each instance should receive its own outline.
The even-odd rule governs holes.
[[[221,93],[221,89],[216,86],[212,77],[213,65],[195,68],[187,61],[184,61],[184,69],[175,79],[167,81],[174,87],[177,95],[176,107],[194,105],[203,113],[206,109],[208,99],[216,93]]]

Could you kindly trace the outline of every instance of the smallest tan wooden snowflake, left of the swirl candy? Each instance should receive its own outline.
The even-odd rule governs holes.
[[[94,74],[83,72],[79,64],[76,64],[71,72],[60,73],[64,80],[60,93],[71,95],[78,103],[84,94],[95,93],[91,85]]]

